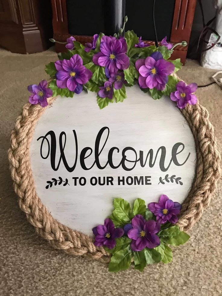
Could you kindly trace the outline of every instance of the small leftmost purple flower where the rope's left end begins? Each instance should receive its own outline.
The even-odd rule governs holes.
[[[52,97],[52,90],[47,88],[47,81],[42,80],[39,85],[30,84],[28,86],[28,91],[31,93],[29,97],[29,103],[31,104],[40,104],[42,107],[48,105],[47,98]]]

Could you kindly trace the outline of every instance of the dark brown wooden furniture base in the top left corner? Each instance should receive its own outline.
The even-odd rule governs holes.
[[[50,46],[50,0],[0,0],[0,46],[13,53],[36,53]]]

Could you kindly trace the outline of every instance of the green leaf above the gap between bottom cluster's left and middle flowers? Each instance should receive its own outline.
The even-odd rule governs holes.
[[[113,220],[114,225],[123,227],[125,224],[130,223],[133,218],[133,212],[129,203],[122,198],[115,198],[113,206],[115,209],[109,218]]]

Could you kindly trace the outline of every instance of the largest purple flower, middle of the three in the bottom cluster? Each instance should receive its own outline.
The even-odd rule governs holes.
[[[160,224],[154,220],[146,221],[141,217],[132,218],[132,229],[128,230],[127,235],[132,239],[131,249],[141,251],[146,247],[155,248],[160,244],[160,238],[156,235],[160,231]]]

